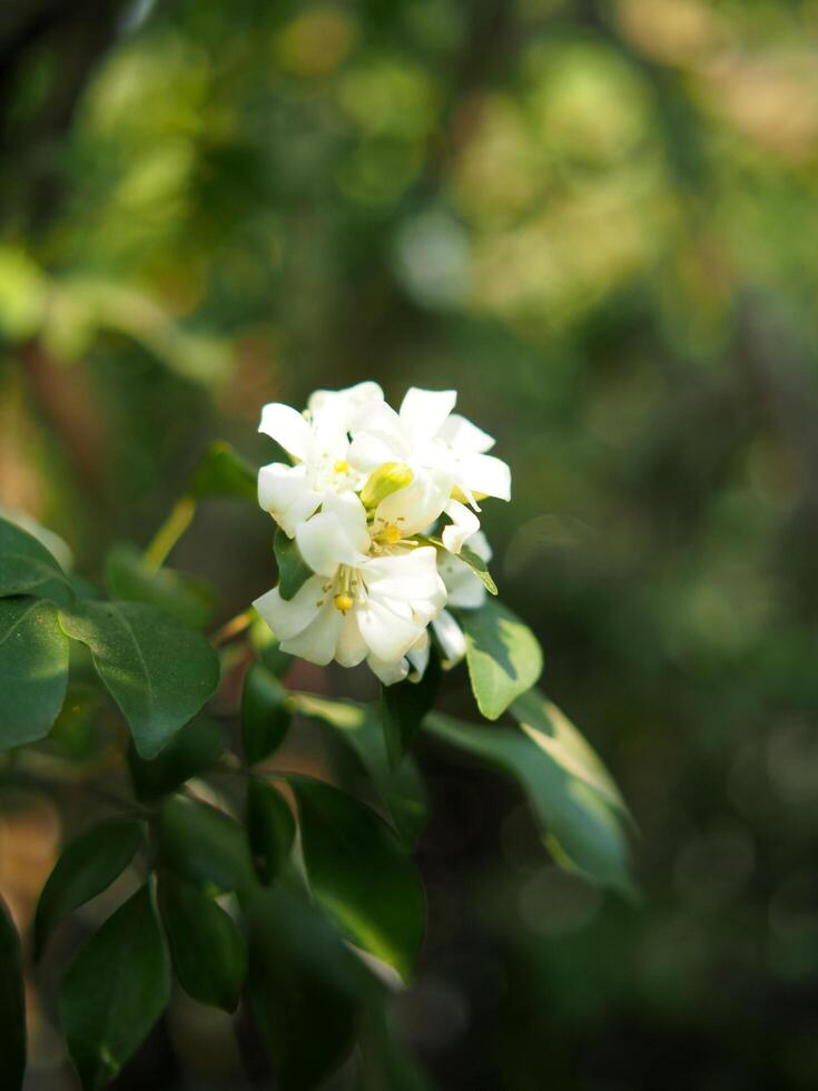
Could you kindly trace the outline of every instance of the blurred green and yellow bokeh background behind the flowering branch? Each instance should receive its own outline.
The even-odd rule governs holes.
[[[423,743],[436,1084],[818,1085],[818,2],[6,0],[0,95],[0,502],[80,572],[315,386],[456,387],[512,465],[495,577],[644,901]],[[174,561],[228,618],[270,527],[199,519]],[[57,820],[4,820],[19,912]],[[203,1018],[121,1085],[243,1085]]]

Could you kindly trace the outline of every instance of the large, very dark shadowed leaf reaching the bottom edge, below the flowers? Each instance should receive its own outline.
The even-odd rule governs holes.
[[[352,1049],[365,972],[314,907],[280,884],[253,900],[248,924],[247,992],[276,1087],[312,1091]]]

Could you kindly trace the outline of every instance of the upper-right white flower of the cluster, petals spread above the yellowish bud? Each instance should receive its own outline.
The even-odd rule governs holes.
[[[505,462],[486,454],[494,440],[464,416],[453,413],[455,391],[426,391],[410,387],[395,413],[385,402],[371,402],[361,412],[351,445],[356,465],[374,469],[384,462],[401,461],[413,470],[443,470],[454,484],[454,503],[447,514],[463,523],[466,501],[479,511],[477,499],[511,498],[511,472]],[[479,527],[476,517],[463,530],[444,535],[447,549],[460,546]]]

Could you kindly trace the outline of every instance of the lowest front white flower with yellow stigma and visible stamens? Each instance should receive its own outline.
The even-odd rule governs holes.
[[[328,493],[299,528],[299,549],[316,574],[288,601],[274,588],[254,603],[284,651],[322,666],[366,659],[386,685],[405,677],[404,657],[423,642],[446,591],[434,548],[405,544],[390,530],[397,520],[410,525],[398,495],[382,502],[371,528],[357,497]]]

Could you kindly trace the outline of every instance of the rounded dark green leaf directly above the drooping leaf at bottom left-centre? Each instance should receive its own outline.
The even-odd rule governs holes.
[[[253,864],[242,826],[223,810],[171,796],[159,813],[159,855],[178,875],[216,891],[244,891]]]

